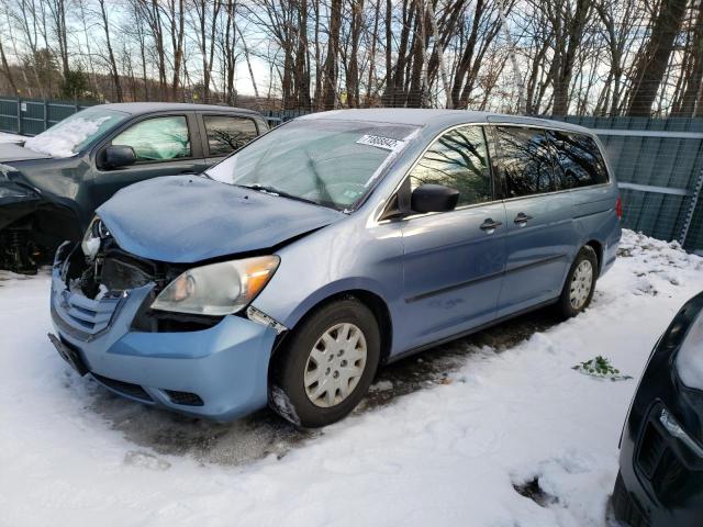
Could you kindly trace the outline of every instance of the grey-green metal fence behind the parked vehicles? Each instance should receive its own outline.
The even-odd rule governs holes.
[[[90,103],[0,98],[0,132],[35,135]],[[276,126],[306,112],[267,111]],[[556,117],[593,128],[623,198],[623,225],[703,253],[703,119]]]

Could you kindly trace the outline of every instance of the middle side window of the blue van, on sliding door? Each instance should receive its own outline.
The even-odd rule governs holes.
[[[499,126],[498,166],[505,178],[507,198],[554,190],[554,166],[544,130]]]

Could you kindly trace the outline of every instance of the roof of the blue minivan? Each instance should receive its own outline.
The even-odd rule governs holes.
[[[576,124],[548,119],[526,117],[522,115],[505,115],[491,112],[473,112],[468,110],[431,110],[417,108],[379,108],[362,110],[333,110],[330,112],[311,113],[299,117],[301,120],[339,120],[365,121],[389,124],[408,124],[413,126],[453,126],[464,123],[512,123],[532,124],[550,128],[572,130],[592,134],[593,132]]]

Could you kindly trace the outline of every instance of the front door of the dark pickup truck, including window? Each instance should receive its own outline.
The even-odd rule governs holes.
[[[136,162],[113,169],[101,167],[101,152],[109,145],[131,146]],[[96,156],[90,191],[93,209],[129,184],[159,176],[200,173],[205,168],[194,113],[147,116],[118,132]]]

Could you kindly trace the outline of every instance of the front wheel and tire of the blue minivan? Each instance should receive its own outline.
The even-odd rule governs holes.
[[[275,357],[269,405],[303,428],[336,423],[366,395],[380,350],[378,323],[368,307],[353,298],[326,304],[293,329]]]

